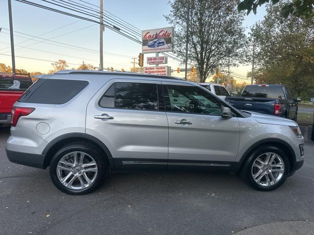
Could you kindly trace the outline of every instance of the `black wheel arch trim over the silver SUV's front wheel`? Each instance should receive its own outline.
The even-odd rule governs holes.
[[[282,149],[285,154],[287,155],[289,159],[290,169],[289,172],[293,171],[294,164],[296,163],[296,156],[294,153],[293,148],[290,144],[288,144],[286,141],[283,141],[281,139],[277,138],[267,138],[261,141],[255,142],[253,145],[251,145],[241,156],[240,161],[238,163],[234,164],[234,167],[232,169],[233,172],[237,172],[243,165],[244,161],[250,156],[250,154],[259,146],[261,145],[273,145],[280,149]]]

